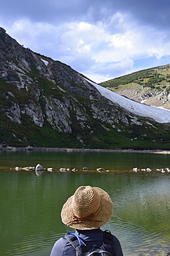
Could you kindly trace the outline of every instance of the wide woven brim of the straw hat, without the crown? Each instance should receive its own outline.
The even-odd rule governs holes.
[[[93,189],[96,190],[100,196],[100,208],[98,212],[96,212],[96,214],[94,214],[90,219],[82,220],[78,223],[72,222],[74,216],[74,212],[72,212],[72,201],[74,195],[70,196],[61,210],[61,219],[65,225],[79,230],[92,230],[104,226],[109,221],[109,219],[111,219],[114,206],[109,194],[107,194],[107,192],[101,188],[93,187]]]

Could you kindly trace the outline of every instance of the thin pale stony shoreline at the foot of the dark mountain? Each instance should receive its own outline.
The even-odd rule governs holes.
[[[0,147],[0,152],[113,152],[113,153],[149,153],[170,154],[166,149],[86,149],[66,147]]]

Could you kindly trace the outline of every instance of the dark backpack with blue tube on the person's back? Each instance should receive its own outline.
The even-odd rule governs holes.
[[[78,235],[75,233],[67,233],[65,238],[75,248],[76,256],[116,256],[113,237],[109,230],[105,230],[103,232],[103,245],[99,248],[97,246],[89,248],[89,246],[87,246],[85,242],[81,240],[81,237],[78,237]]]

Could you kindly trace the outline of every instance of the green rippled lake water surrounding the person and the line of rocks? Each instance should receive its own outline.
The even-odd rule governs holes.
[[[57,171],[36,176],[10,170],[38,163]],[[111,196],[114,214],[103,230],[118,237],[125,256],[170,255],[170,173],[130,171],[170,167],[168,154],[1,152],[0,167],[0,256],[50,255],[55,241],[72,230],[60,212],[80,185]],[[60,167],[110,172],[61,173]]]

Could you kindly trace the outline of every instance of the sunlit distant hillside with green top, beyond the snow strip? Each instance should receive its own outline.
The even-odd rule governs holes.
[[[170,64],[124,75],[101,85],[131,100],[170,109]]]

